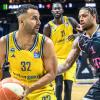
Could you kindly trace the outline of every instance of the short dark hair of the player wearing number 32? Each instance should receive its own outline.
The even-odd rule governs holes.
[[[28,9],[38,10],[38,7],[35,5],[32,5],[32,4],[23,4],[23,5],[21,5],[20,8],[17,9],[17,13],[16,13],[17,17],[23,13],[27,13]]]

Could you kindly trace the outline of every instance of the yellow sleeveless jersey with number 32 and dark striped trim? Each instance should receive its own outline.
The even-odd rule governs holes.
[[[46,73],[43,62],[42,52],[45,37],[38,33],[30,50],[22,50],[15,38],[16,32],[7,36],[8,43],[8,62],[10,63],[9,72],[11,77],[20,80],[23,84],[31,86]],[[53,90],[51,84],[38,89],[38,91]]]

